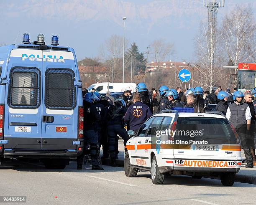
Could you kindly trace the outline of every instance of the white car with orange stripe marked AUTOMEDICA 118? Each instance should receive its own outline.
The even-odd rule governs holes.
[[[141,126],[125,147],[125,175],[138,170],[151,172],[154,184],[162,184],[167,173],[220,177],[231,186],[241,167],[240,139],[220,112],[179,113],[164,110]]]

